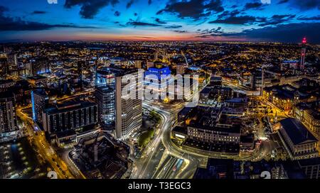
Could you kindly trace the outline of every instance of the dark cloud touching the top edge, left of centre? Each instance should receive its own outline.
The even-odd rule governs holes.
[[[103,7],[118,3],[119,0],[65,0],[65,8],[80,6],[82,18],[93,18]]]

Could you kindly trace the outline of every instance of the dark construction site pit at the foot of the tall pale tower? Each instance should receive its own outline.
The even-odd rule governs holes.
[[[69,156],[92,179],[125,178],[132,168],[129,146],[105,133],[82,138]]]

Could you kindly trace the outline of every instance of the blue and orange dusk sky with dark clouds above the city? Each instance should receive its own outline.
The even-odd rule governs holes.
[[[48,1],[1,0],[0,40],[320,43],[320,0]]]

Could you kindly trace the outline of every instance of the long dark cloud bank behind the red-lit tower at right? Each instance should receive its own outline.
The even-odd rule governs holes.
[[[311,43],[320,43],[320,23],[289,23],[242,31],[225,33],[223,36],[242,37],[251,40],[268,40],[283,43],[298,43],[306,37]]]

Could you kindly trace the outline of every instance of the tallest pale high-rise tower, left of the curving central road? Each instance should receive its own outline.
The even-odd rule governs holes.
[[[142,74],[142,75],[140,75]],[[122,82],[125,75],[132,75],[130,82]],[[129,133],[142,127],[142,79],[143,73],[138,70],[122,71],[118,73],[115,79],[115,130],[116,138],[125,138]],[[135,81],[135,82],[134,82]],[[134,92],[135,98],[125,99],[122,96],[122,91],[130,87],[131,92]]]

